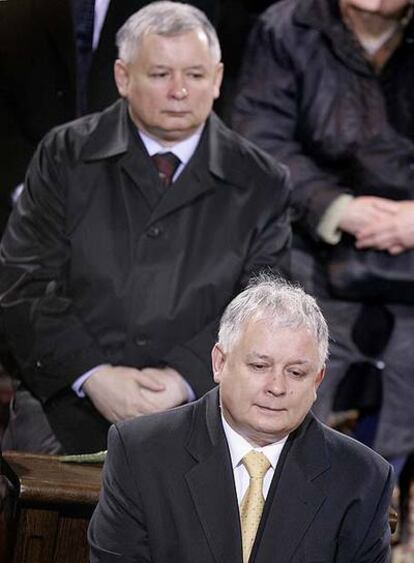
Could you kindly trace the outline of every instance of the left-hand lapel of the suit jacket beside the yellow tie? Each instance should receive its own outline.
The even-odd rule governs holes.
[[[241,563],[241,534],[230,453],[222,429],[218,391],[198,411],[187,449],[196,465],[185,476],[217,563]]]

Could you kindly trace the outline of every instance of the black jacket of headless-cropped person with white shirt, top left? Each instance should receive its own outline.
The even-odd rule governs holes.
[[[149,2],[112,0],[88,85],[88,112],[101,111],[118,98],[113,78],[115,34],[124,21]],[[218,0],[190,2],[213,19]],[[76,117],[76,61],[69,0],[0,2],[0,232],[9,212],[9,195],[23,181],[42,137]]]

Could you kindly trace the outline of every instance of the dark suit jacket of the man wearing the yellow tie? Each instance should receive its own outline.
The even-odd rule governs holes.
[[[392,481],[384,459],[309,414],[284,447],[250,561],[389,561]],[[91,563],[241,563],[216,389],[111,428],[89,542]]]

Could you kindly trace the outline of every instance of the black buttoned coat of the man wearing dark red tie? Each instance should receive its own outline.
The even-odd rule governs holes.
[[[170,365],[209,389],[217,317],[289,241],[273,159],[213,115],[159,199],[127,115],[119,101],[45,138],[1,246],[7,336],[68,450],[105,445],[106,421],[69,389],[96,365]]]

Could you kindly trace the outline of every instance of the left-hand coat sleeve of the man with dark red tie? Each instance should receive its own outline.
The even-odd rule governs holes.
[[[7,338],[26,384],[42,401],[105,363],[67,288],[66,186],[51,147],[43,142],[37,150],[0,249]]]

